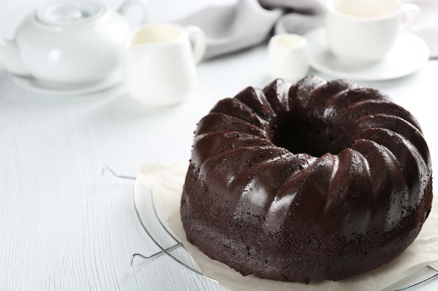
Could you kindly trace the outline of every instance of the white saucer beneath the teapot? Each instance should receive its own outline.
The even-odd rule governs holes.
[[[10,77],[18,84],[20,87],[25,89],[50,95],[79,95],[79,94],[90,94],[93,92],[101,91],[115,86],[122,81],[120,73],[114,73],[110,75],[105,80],[99,82],[94,82],[90,84],[84,84],[82,86],[66,86],[59,84],[50,84],[46,82],[41,82],[34,77],[22,77],[17,75],[10,75]]]

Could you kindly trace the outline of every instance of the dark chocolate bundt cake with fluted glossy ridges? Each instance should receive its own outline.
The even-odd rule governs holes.
[[[275,80],[199,121],[181,200],[188,241],[243,275],[339,280],[388,262],[432,203],[420,126],[347,80]]]

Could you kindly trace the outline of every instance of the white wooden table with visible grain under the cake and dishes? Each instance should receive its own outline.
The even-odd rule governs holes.
[[[0,36],[43,0],[0,0]],[[221,2],[221,1],[219,1]],[[115,8],[119,0],[109,1]],[[150,21],[169,21],[206,1],[150,0]],[[327,79],[333,77],[315,71]],[[51,96],[18,87],[0,67],[0,290],[225,290],[158,251],[141,229],[132,181],[143,163],[188,161],[199,119],[221,98],[263,87],[266,45],[204,62],[190,100],[165,110],[135,103],[122,85],[82,96]],[[438,165],[438,61],[386,82],[386,91],[423,126]],[[438,280],[411,290],[438,290]]]

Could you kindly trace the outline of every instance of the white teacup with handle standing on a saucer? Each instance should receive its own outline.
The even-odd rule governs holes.
[[[397,0],[327,0],[328,45],[342,59],[379,61],[420,14],[418,6]]]

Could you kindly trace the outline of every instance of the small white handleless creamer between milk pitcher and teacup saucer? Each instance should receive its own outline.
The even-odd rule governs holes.
[[[268,44],[268,70],[271,77],[297,81],[309,70],[306,39],[292,33],[273,36]]]

